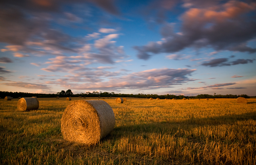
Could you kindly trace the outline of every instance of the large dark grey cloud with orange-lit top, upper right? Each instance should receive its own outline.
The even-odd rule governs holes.
[[[164,24],[161,30],[163,41],[134,46],[139,59],[147,60],[154,54],[174,53],[191,47],[256,52],[256,48],[247,46],[247,42],[256,36],[256,22],[252,14],[256,9],[255,2],[217,4],[216,1],[212,6],[199,5],[199,1],[191,2],[193,7],[180,16],[182,25],[179,33],[182,35],[174,32],[175,24]]]

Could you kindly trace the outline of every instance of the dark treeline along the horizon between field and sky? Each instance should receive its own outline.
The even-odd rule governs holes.
[[[70,89],[69,89],[70,90]],[[68,91],[69,91],[68,90]],[[71,91],[71,90],[70,90]],[[64,91],[65,92],[65,91]],[[184,96],[184,95],[157,95],[157,94],[121,94],[121,93],[114,93],[114,92],[86,92],[86,93],[80,93],[80,94],[73,94],[72,92],[69,93],[61,93],[58,92],[57,94],[44,94],[44,93],[24,93],[24,92],[8,92],[8,91],[0,91],[0,97],[5,98],[6,96],[10,96],[13,98],[18,97],[38,97],[38,98],[51,98],[51,97],[134,97],[134,98],[177,98],[177,99],[183,99],[183,98],[238,98],[238,97],[244,97],[244,98],[250,98],[248,95],[208,95],[208,94],[201,94],[197,96]],[[256,97],[256,96],[251,96]]]

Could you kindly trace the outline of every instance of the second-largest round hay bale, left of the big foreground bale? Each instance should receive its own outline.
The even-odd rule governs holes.
[[[18,100],[17,108],[19,111],[37,110],[39,102],[36,97],[25,97]]]

